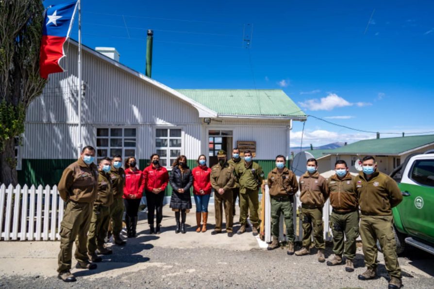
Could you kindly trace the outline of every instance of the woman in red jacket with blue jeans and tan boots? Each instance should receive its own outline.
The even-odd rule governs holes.
[[[193,193],[196,203],[196,222],[198,228],[196,232],[206,232],[206,222],[208,221],[208,202],[211,196],[211,169],[206,166],[205,155],[200,155],[198,159],[199,166],[193,169]],[[200,218],[203,220],[200,229]]]

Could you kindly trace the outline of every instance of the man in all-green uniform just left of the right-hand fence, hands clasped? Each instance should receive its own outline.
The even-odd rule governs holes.
[[[253,236],[258,235],[259,226],[259,187],[264,179],[264,172],[261,166],[252,161],[250,150],[244,151],[244,161],[235,166],[235,176],[240,183],[240,224],[237,234],[246,231],[247,216],[250,210],[250,221],[252,223]]]

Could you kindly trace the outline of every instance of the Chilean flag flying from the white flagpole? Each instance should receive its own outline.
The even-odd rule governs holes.
[[[63,72],[60,60],[65,56],[63,44],[71,32],[77,0],[69,3],[53,5],[45,11],[39,72],[47,79],[50,73]]]

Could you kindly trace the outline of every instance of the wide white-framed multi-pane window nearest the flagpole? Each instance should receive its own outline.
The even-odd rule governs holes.
[[[135,128],[97,128],[97,161],[116,155],[136,158]]]

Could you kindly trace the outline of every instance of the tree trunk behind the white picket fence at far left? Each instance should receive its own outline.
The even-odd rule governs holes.
[[[17,161],[15,159],[15,139],[5,142],[4,150],[0,152],[0,184],[9,186],[18,184]]]

